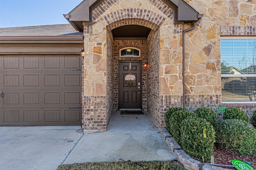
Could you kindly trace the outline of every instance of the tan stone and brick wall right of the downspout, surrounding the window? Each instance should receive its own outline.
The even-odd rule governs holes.
[[[256,36],[256,1],[185,2],[203,14],[196,28],[185,34],[185,107],[190,111],[198,107],[210,107],[214,111],[218,106],[238,107],[252,116],[256,103],[228,104],[221,101],[220,39],[221,36]],[[183,27],[191,26],[184,24]],[[165,114],[169,107],[182,107],[183,99],[182,95],[166,93],[160,102],[161,114]],[[218,121],[222,121],[223,113],[217,114]],[[162,126],[165,126],[165,121]]]

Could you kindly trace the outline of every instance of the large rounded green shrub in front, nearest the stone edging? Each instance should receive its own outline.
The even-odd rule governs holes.
[[[205,135],[204,135],[205,129]],[[189,117],[181,123],[181,146],[191,156],[210,160],[213,154],[215,131],[212,125],[203,118]]]

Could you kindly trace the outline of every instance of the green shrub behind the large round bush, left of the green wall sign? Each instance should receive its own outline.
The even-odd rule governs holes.
[[[211,125],[216,128],[218,125],[217,114],[215,111],[208,107],[200,107],[195,111],[197,117],[206,119]]]

